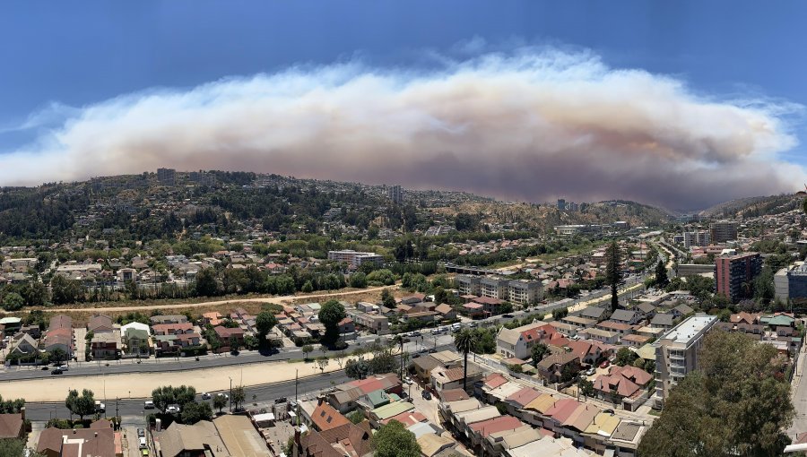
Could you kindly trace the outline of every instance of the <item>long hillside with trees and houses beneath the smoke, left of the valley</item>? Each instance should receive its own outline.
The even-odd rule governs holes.
[[[98,177],[76,183],[0,188],[0,243],[91,237],[142,240],[254,232],[376,237],[434,226],[459,230],[551,230],[559,224],[656,226],[662,210],[633,202],[554,205],[504,203],[463,192],[404,191],[395,204],[383,185],[364,185],[249,172],[177,172],[173,183],[154,173]]]

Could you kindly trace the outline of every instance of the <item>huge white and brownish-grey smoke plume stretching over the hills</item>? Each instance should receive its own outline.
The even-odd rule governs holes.
[[[798,188],[800,107],[695,94],[586,52],[523,49],[423,72],[358,63],[149,91],[74,109],[0,155],[0,184],[158,167],[675,209]]]

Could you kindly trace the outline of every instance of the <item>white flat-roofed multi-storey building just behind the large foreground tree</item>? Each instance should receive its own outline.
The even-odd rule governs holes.
[[[655,341],[656,405],[661,406],[670,389],[698,368],[698,350],[717,321],[714,315],[693,315]]]

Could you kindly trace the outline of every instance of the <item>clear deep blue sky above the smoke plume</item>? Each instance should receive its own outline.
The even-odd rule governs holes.
[[[805,19],[807,3],[795,1],[6,2],[0,154],[61,125],[70,108],[131,92],[353,60],[429,68],[438,65],[432,53],[473,53],[480,43],[588,49],[612,68],[670,75],[704,98],[807,106]],[[34,128],[19,128],[37,113]],[[803,140],[798,117],[788,129]],[[803,165],[801,151],[778,154]]]

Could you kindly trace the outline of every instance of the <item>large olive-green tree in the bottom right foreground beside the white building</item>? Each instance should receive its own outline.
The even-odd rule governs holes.
[[[638,455],[780,455],[794,418],[785,358],[743,333],[712,331],[699,363],[670,391]]]

